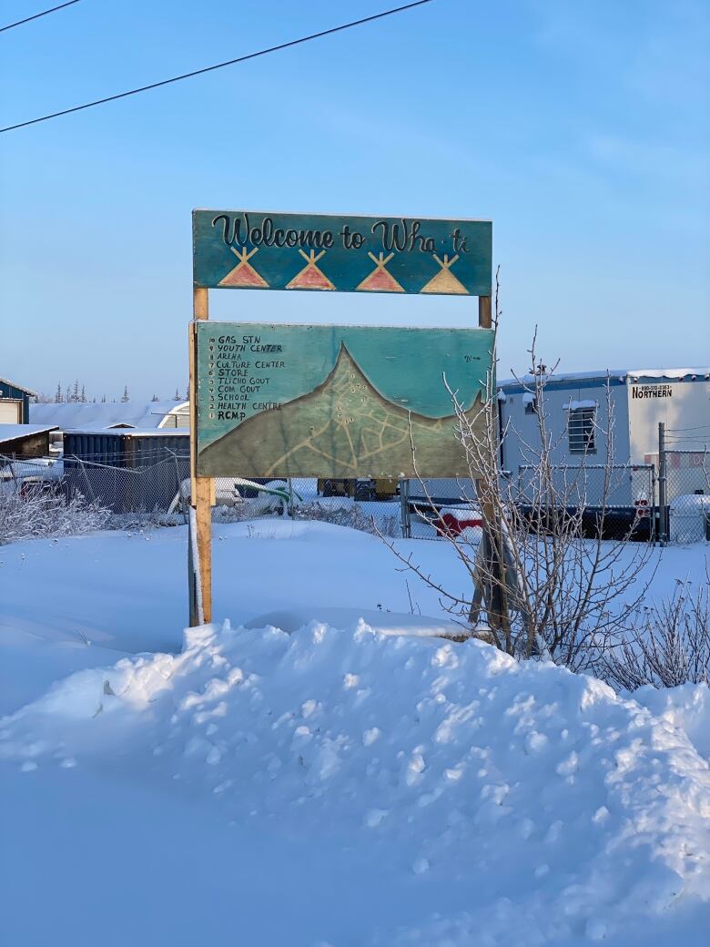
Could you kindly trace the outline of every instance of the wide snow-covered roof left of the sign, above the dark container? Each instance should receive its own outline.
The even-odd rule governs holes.
[[[62,402],[30,404],[29,415],[33,421],[51,423],[67,430],[103,431],[115,424],[132,428],[155,429],[169,415],[186,414],[187,402],[104,402],[83,404]]]

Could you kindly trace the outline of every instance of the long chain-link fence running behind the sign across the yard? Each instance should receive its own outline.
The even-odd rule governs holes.
[[[31,460],[0,456],[0,496],[44,494],[63,497],[67,503],[83,498],[108,509],[107,526],[115,528],[185,522],[190,493],[186,452],[144,453],[136,467],[118,466],[111,459],[105,454]],[[560,466],[553,471],[552,484],[558,502],[582,511],[582,526],[589,535],[601,528],[609,539],[689,543],[710,539],[709,472],[706,453],[667,451],[665,516],[652,464]],[[523,466],[502,477],[524,514],[540,505],[543,498],[534,467]],[[215,480],[216,522],[270,515],[412,539],[436,540],[453,533],[477,542],[482,534],[471,480]]]

